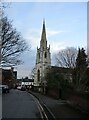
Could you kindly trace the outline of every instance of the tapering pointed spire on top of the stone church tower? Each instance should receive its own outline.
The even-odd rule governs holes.
[[[45,20],[43,20],[43,28],[42,28],[42,35],[41,35],[41,43],[42,48],[47,47],[47,41],[46,41],[46,29],[45,29]]]

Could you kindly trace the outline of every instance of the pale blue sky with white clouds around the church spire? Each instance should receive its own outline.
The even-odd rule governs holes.
[[[29,76],[35,66],[43,19],[48,45],[51,47],[52,65],[55,65],[54,55],[59,50],[87,45],[86,2],[13,2],[5,12],[13,20],[13,27],[21,32],[28,46],[31,46],[31,50],[22,56],[24,64],[16,67],[18,78]]]

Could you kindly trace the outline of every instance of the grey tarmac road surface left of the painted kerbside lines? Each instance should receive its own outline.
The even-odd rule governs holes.
[[[26,91],[12,89],[2,95],[2,118],[41,118],[39,105]]]

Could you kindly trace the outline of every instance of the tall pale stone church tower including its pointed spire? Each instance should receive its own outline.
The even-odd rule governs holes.
[[[44,80],[45,70],[51,66],[50,45],[47,47],[45,21],[43,21],[40,48],[37,47],[34,86],[40,86]]]

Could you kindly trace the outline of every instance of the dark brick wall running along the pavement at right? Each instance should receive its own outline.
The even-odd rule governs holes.
[[[47,95],[55,99],[65,99],[73,106],[89,113],[89,93],[87,92],[82,93],[73,89],[66,89],[64,91],[60,89],[48,89]]]

